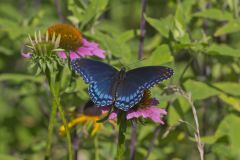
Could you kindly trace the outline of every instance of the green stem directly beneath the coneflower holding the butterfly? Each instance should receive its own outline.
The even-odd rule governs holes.
[[[125,132],[127,130],[126,113],[120,112],[118,116],[118,146],[117,146],[117,160],[123,159],[123,153],[125,150]]]

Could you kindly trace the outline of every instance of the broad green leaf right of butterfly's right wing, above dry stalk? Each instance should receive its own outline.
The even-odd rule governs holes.
[[[191,92],[194,100],[202,100],[220,93],[220,91],[200,81],[188,80],[184,83],[184,87],[187,92]]]

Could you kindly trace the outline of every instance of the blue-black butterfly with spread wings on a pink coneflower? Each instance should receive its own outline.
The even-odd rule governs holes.
[[[95,60],[75,59],[72,69],[89,84],[90,98],[97,106],[114,105],[128,111],[143,97],[144,90],[173,75],[171,68],[146,66],[130,71],[114,67]]]

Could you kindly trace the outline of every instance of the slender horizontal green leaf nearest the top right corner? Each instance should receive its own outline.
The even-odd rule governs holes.
[[[233,20],[233,15],[227,11],[221,11],[220,9],[211,8],[194,14],[195,17],[202,17],[213,19],[217,21],[229,21]]]

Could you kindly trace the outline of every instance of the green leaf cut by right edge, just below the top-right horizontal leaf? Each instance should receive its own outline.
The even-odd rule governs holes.
[[[229,34],[229,33],[234,33],[239,31],[240,31],[240,20],[234,20],[218,28],[217,31],[214,33],[214,36],[221,36],[224,34]]]

